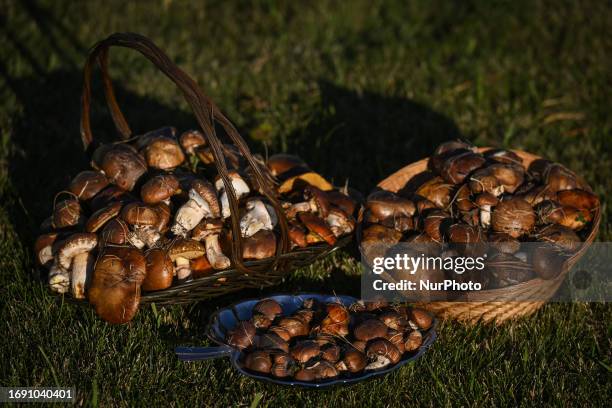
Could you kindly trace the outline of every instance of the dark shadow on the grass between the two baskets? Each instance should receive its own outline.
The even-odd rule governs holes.
[[[416,101],[319,83],[322,107],[288,138],[289,151],[336,184],[366,194],[391,173],[460,137],[445,115]]]

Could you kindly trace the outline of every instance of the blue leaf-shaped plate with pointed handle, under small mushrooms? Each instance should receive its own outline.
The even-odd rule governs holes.
[[[298,295],[274,295],[267,296],[266,298],[272,298],[276,300],[283,308],[283,315],[290,315],[302,306],[305,299],[316,299],[322,303],[340,302],[345,306],[349,306],[357,301],[357,299],[350,296],[330,296],[320,295],[316,293],[301,293]],[[226,344],[225,338],[226,333],[232,330],[239,321],[248,320],[253,315],[253,307],[261,299],[244,300],[233,304],[225,309],[221,309],[212,315],[208,326],[208,337],[218,344],[214,347],[177,347],[175,352],[178,358],[182,361],[197,361],[197,360],[208,360],[219,357],[229,357],[232,364],[241,374],[247,377],[256,378],[258,380],[267,381],[275,384],[282,385],[293,385],[308,388],[323,388],[337,384],[351,384],[359,381],[366,380],[372,377],[378,377],[385,375],[393,370],[397,370],[405,364],[415,361],[421,357],[425,351],[433,344],[436,340],[436,326],[438,321],[433,320],[433,324],[429,330],[422,331],[423,344],[416,353],[404,354],[402,359],[395,365],[385,367],[380,370],[364,371],[359,374],[346,374],[346,376],[338,376],[336,378],[330,378],[320,381],[297,381],[294,379],[276,378],[270,375],[261,373],[255,373],[246,370],[242,366],[240,350],[230,347]]]

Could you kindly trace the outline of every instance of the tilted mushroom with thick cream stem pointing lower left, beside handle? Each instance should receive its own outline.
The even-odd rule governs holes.
[[[203,218],[219,216],[219,201],[212,184],[195,179],[191,183],[189,200],[176,212],[171,230],[174,234],[185,237]]]

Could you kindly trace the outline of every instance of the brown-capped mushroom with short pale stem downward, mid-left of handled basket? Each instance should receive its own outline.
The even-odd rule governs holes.
[[[161,238],[155,229],[157,212],[152,207],[143,203],[130,203],[121,210],[121,218],[132,226],[127,238],[136,248],[141,249],[145,245],[151,248]]]

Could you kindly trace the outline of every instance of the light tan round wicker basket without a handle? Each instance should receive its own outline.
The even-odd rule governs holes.
[[[484,152],[489,149],[488,147],[483,147],[479,150],[480,152]],[[531,162],[540,158],[520,150],[513,151],[523,159],[525,166],[529,166]],[[392,192],[399,191],[413,176],[427,169],[428,160],[427,158],[409,164],[378,183],[378,187]],[[517,298],[529,299],[536,297],[540,299],[550,299],[563,282],[571,266],[584,254],[588,248],[588,244],[595,240],[600,221],[601,209],[598,208],[593,217],[591,230],[588,232],[585,239],[585,244],[587,245],[582,245],[581,249],[567,260],[565,268],[555,279],[544,280],[537,278],[505,288],[472,293],[470,294],[469,302],[431,302],[421,303],[420,306],[430,310],[441,318],[457,319],[469,323],[475,323],[477,321],[494,321],[496,323],[502,323],[508,319],[530,315],[538,310],[545,301],[512,300]],[[479,301],[479,299],[483,300]],[[491,301],[491,299],[496,300]]]

